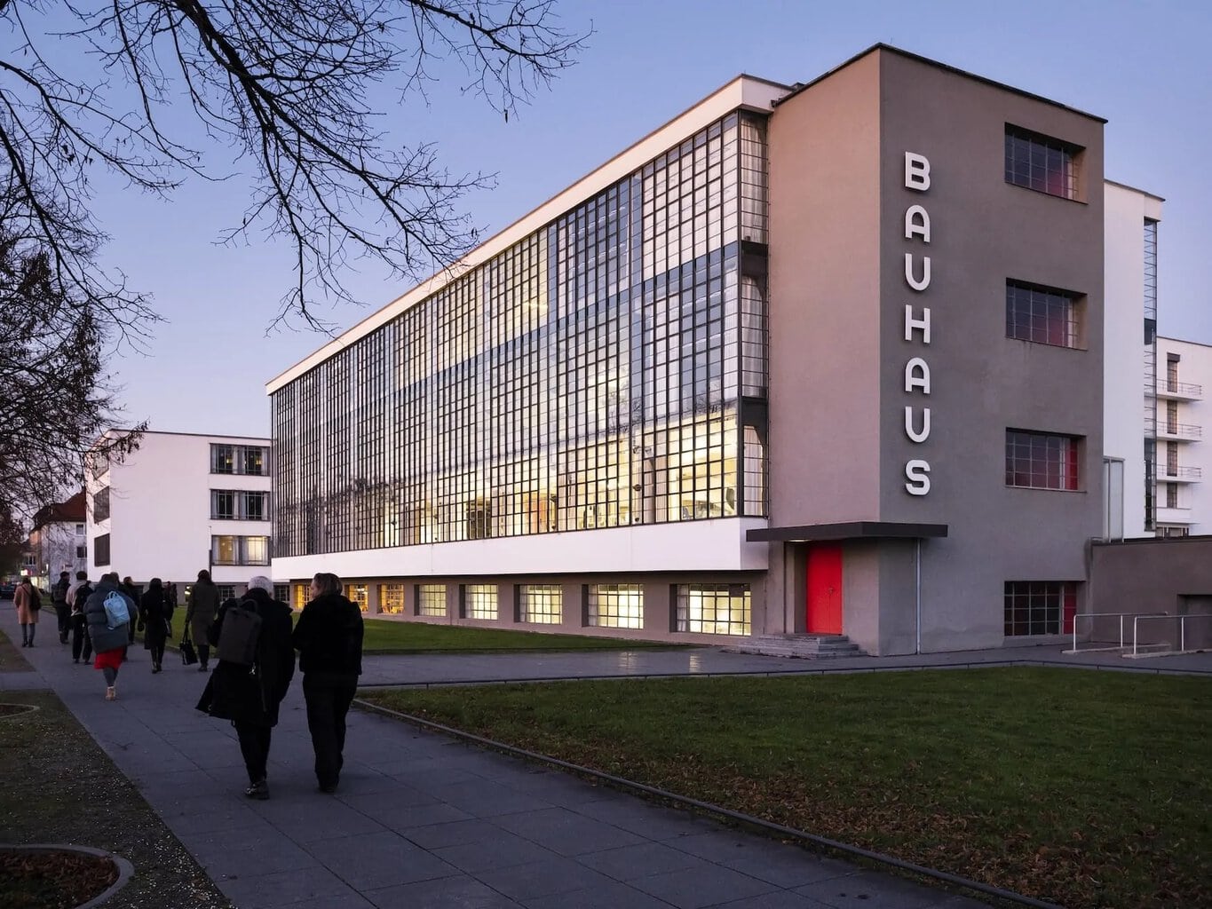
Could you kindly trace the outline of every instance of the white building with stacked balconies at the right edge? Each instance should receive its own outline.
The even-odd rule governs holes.
[[[1157,338],[1156,534],[1212,533],[1212,347]]]

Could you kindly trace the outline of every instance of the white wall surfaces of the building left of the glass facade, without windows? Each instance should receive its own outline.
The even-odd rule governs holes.
[[[210,568],[217,584],[245,584],[255,574],[268,574],[268,565],[211,565],[212,536],[269,537],[264,521],[212,520],[211,490],[270,491],[270,476],[212,474],[211,445],[269,448],[268,439],[223,435],[147,433],[138,451],[110,465],[99,478],[88,478],[88,576],[116,571],[137,584],[153,577],[193,583]],[[268,463],[268,462],[267,462]],[[108,486],[109,519],[93,519],[93,497]],[[269,511],[267,510],[267,516]],[[98,566],[97,537],[109,534],[109,565]]]

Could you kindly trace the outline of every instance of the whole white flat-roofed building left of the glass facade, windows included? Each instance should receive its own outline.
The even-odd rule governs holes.
[[[114,435],[122,430],[110,430]],[[207,568],[224,595],[269,573],[268,439],[144,433],[121,462],[86,476],[88,573],[182,588]]]

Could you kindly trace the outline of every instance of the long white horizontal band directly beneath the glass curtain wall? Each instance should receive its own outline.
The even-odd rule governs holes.
[[[765,519],[737,518],[299,555],[274,559],[273,578],[765,571],[768,547],[745,542],[749,530],[765,526]]]

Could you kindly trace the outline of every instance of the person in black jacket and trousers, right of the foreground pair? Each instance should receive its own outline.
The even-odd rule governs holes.
[[[362,613],[341,594],[341,578],[321,572],[291,640],[299,652],[307,725],[320,791],[335,793],[345,748],[345,714],[362,674]]]

